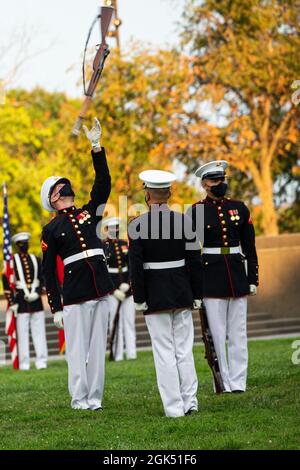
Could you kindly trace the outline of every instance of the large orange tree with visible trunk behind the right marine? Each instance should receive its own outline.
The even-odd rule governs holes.
[[[196,106],[177,156],[191,167],[199,152],[203,160],[224,158],[251,178],[268,235],[278,233],[274,181],[299,158],[299,110],[291,102],[300,77],[299,19],[297,0],[187,0],[183,16]],[[203,123],[201,104],[216,125]]]

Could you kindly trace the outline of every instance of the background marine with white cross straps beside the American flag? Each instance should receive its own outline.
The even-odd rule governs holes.
[[[29,329],[35,350],[37,369],[47,367],[45,312],[41,299],[41,262],[28,252],[30,233],[21,232],[12,237],[18,253],[14,255],[16,290],[13,291],[3,276],[4,294],[17,317],[19,368],[30,369]]]

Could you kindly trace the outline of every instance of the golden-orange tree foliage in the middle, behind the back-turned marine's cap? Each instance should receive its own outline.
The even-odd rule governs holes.
[[[144,169],[172,170],[174,156],[160,153],[171,139],[173,120],[185,116],[193,75],[189,60],[175,50],[152,50],[135,45],[130,53],[112,51],[90,117],[103,122],[113,192],[143,202],[138,174]],[[182,182],[173,202],[191,202],[194,190]]]

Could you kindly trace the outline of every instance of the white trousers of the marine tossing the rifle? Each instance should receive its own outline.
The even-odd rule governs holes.
[[[107,296],[63,310],[69,392],[73,409],[102,406],[108,328]]]

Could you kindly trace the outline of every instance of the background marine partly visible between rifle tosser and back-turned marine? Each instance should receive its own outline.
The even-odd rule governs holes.
[[[113,294],[109,296],[109,329],[111,335],[114,333],[113,356],[115,361],[124,358],[125,342],[126,358],[136,359],[135,308],[129,285],[128,242],[119,238],[118,218],[106,220],[104,227],[107,227],[104,249],[108,272],[115,287]]]

